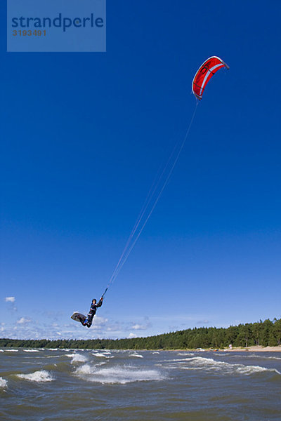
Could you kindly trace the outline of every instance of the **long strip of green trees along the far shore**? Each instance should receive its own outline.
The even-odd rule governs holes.
[[[73,348],[73,349],[196,349],[274,347],[281,344],[281,319],[266,319],[229,328],[192,328],[147,338],[91,340],[18,340],[0,338],[0,347]]]

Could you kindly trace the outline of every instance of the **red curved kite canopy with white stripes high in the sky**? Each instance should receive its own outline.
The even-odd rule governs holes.
[[[223,62],[221,58],[213,55],[204,61],[204,63],[197,70],[192,81],[192,92],[194,93],[195,97],[198,98],[198,100],[202,99],[204,88],[211,79],[211,76],[213,76],[222,67],[229,69],[229,66]]]

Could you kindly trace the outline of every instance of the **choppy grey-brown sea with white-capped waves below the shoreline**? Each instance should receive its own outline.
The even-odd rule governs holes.
[[[281,352],[0,349],[2,421],[281,420]]]

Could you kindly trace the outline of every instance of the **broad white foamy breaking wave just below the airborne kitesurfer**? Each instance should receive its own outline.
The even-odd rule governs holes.
[[[164,379],[164,376],[157,370],[140,370],[131,366],[97,368],[84,364],[84,366],[77,368],[75,374],[89,382],[112,385]]]

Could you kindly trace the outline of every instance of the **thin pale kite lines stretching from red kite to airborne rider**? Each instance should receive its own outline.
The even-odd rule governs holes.
[[[176,145],[171,151],[169,159],[166,161],[163,168],[159,168],[155,180],[152,182],[152,185],[148,192],[148,196],[146,197],[143,203],[143,207],[141,208],[141,212],[138,215],[135,225],[133,225],[133,229],[131,230],[131,233],[126,241],[122,254],[117,262],[117,265],[115,266],[115,269],[112,272],[112,275],[110,276],[110,280],[107,283],[107,287],[105,288],[102,298],[105,296],[108,288],[115,281],[126,260],[129,258],[131,250],[133,250],[133,247],[136,245],[136,242],[138,241],[139,236],[143,232],[145,225],[150,219],[150,216],[153,210],[155,209],[157,202],[162,196],[164,188],[166,187],[167,183],[169,182],[169,179],[171,178],[171,174],[173,173],[176,163],[178,162],[178,158],[181,155],[181,151],[183,150],[183,146],[185,145],[185,142],[190,133],[190,128],[195,119],[197,105],[198,100],[196,101],[195,109],[190,119],[188,130],[185,133],[185,137],[183,138],[183,140],[178,140],[178,142],[176,142]]]

